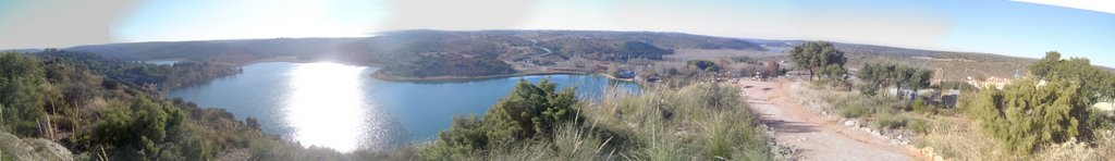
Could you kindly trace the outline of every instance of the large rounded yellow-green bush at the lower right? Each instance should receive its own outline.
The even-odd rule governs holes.
[[[1092,129],[1087,93],[1076,81],[1050,81],[1039,85],[1022,80],[1002,90],[983,90],[971,102],[969,114],[985,132],[1016,153],[1030,153],[1039,145],[1088,140]]]

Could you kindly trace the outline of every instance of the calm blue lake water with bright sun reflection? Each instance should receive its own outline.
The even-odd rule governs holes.
[[[201,107],[258,118],[265,132],[303,145],[384,150],[430,141],[454,115],[483,114],[520,79],[575,85],[582,99],[630,82],[600,76],[527,76],[472,81],[397,82],[369,77],[377,68],[338,63],[266,62],[205,84],[169,91]]]

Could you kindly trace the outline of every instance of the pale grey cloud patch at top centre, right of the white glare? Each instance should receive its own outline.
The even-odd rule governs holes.
[[[534,0],[390,0],[380,30],[511,29],[534,7]]]

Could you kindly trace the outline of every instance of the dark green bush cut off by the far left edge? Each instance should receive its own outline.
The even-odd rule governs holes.
[[[39,134],[46,79],[42,63],[13,52],[0,53],[0,128],[21,135]]]

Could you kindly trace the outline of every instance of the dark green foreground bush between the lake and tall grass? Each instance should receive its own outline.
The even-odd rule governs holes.
[[[511,93],[500,99],[484,114],[455,118],[449,130],[438,133],[436,145],[423,151],[427,158],[467,157],[471,151],[489,145],[512,145],[515,142],[552,140],[560,124],[578,123],[575,89],[556,90],[558,85],[542,80],[531,84],[520,80]],[[454,157],[455,158],[455,157]]]

